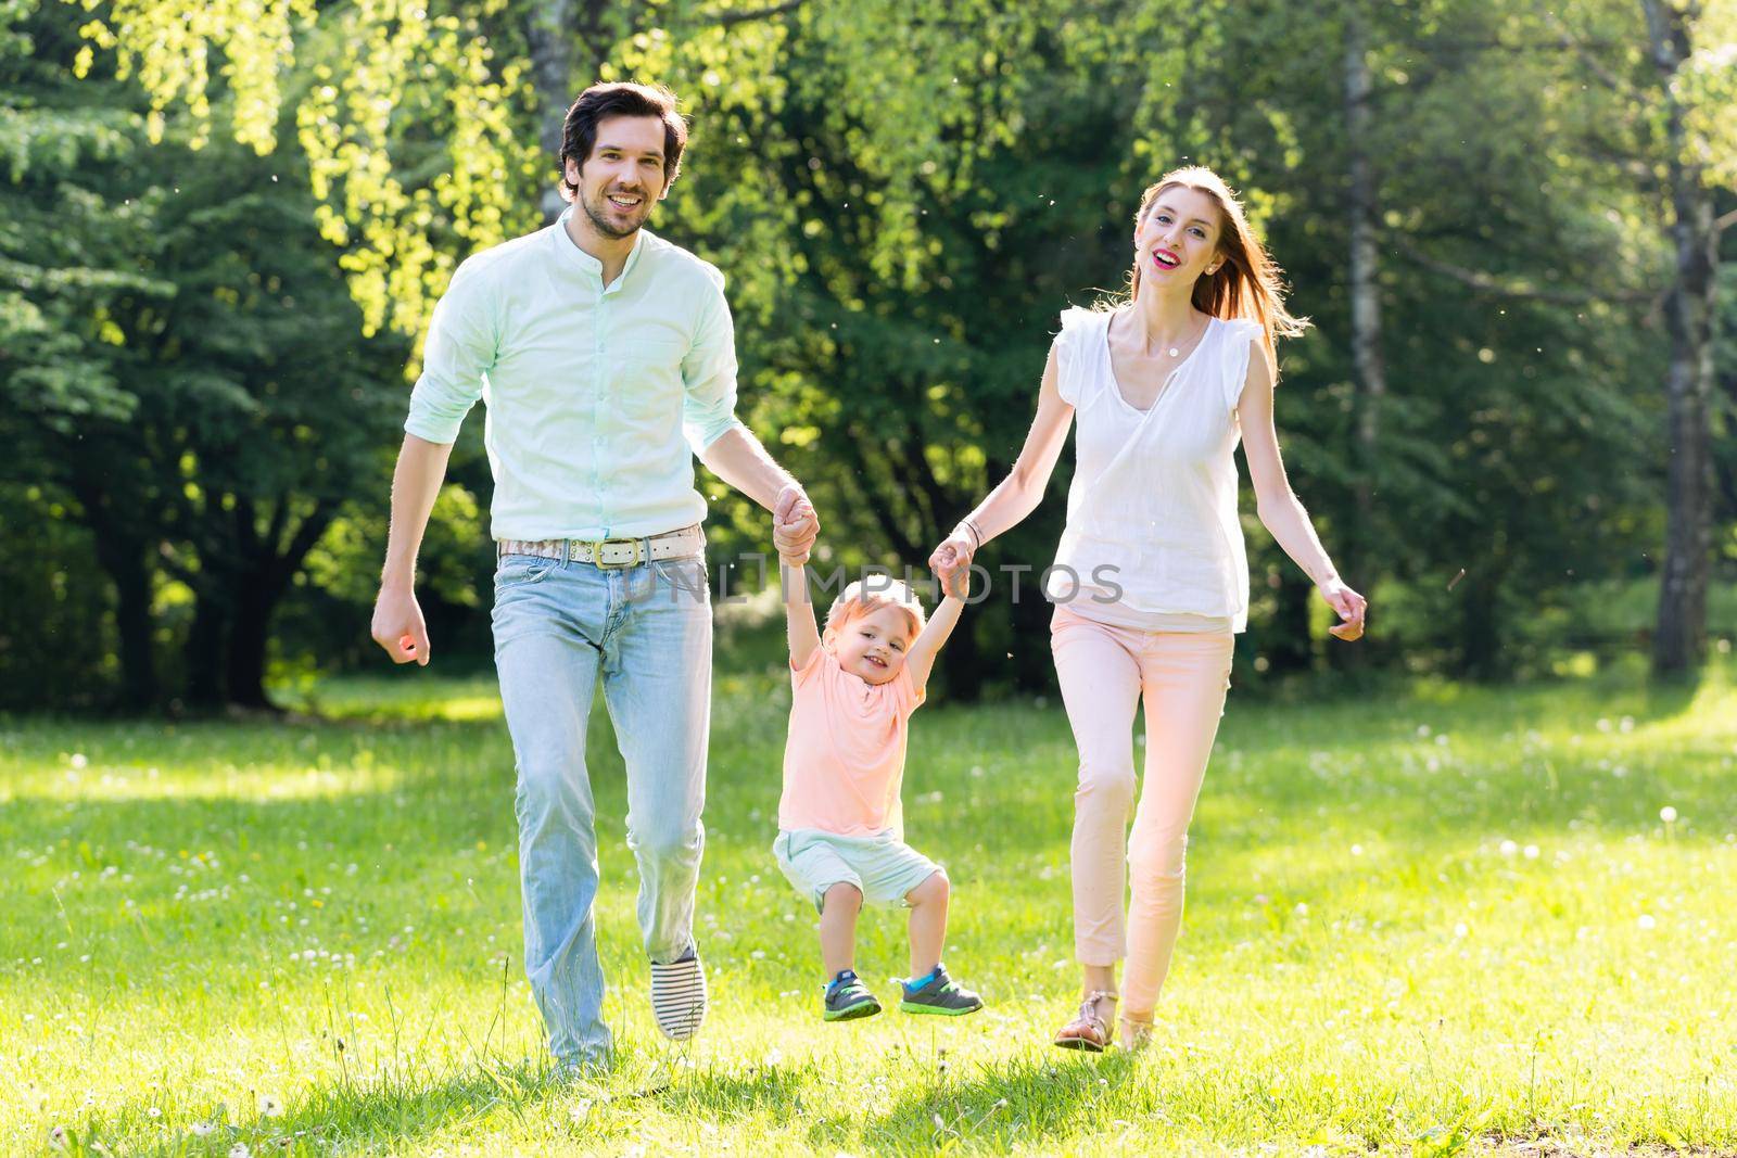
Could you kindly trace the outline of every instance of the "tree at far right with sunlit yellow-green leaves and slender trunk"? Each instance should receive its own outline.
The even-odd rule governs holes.
[[[1600,333],[1610,328],[1636,330],[1635,311],[1612,304],[1661,306],[1643,326],[1647,333],[1629,335],[1631,349],[1635,337],[1641,339],[1645,356],[1615,365],[1631,382],[1662,378],[1666,387],[1659,424],[1666,441],[1650,455],[1664,464],[1666,498],[1652,660],[1655,672],[1678,674],[1699,663],[1706,642],[1720,233],[1737,222],[1718,215],[1716,198],[1737,177],[1737,130],[1728,116],[1737,99],[1737,5],[1586,0],[1516,12],[1511,33],[1534,52],[1522,61],[1525,83],[1508,92],[1527,101],[1509,101],[1499,118],[1470,123],[1499,125],[1499,134],[1487,134],[1490,141],[1525,142],[1527,151],[1509,151],[1504,167],[1548,167],[1548,179],[1537,184],[1544,198],[1523,196],[1520,203],[1534,214],[1513,222],[1527,236],[1539,233],[1536,214],[1572,226],[1551,238],[1565,260],[1529,260],[1520,285],[1492,276],[1487,259],[1426,266],[1492,297],[1584,302],[1588,332],[1572,342],[1584,352],[1603,345]],[[1506,75],[1520,71],[1508,68]],[[1478,106],[1494,104],[1503,101],[1483,90]],[[1506,240],[1494,247],[1497,255],[1506,255]],[[1614,288],[1612,271],[1622,283]],[[1598,281],[1607,286],[1588,292]],[[1607,462],[1631,457],[1612,450]],[[1608,491],[1608,481],[1588,481],[1589,497]],[[1523,550],[1541,554],[1536,543]]]

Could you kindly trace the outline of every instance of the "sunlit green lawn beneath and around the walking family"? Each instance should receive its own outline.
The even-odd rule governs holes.
[[[195,1155],[1728,1153],[1732,684],[1233,693],[1159,1043],[1101,1059],[1046,1045],[1077,984],[1056,701],[912,731],[908,835],[948,865],[948,964],[988,1009],[823,1024],[769,854],[787,693],[721,677],[688,1050],[650,1024],[599,717],[620,1061],[568,1087],[519,972],[492,682],[339,682],[325,720],[3,720],[0,1151],[59,1127]],[[898,917],[865,918],[882,997],[903,957]]]

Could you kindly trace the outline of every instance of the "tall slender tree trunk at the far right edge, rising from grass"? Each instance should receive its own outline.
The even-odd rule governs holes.
[[[1647,31],[1666,104],[1671,241],[1676,280],[1666,299],[1671,333],[1669,401],[1671,464],[1664,573],[1659,583],[1659,628],[1652,670],[1683,675],[1701,665],[1707,635],[1707,582],[1713,564],[1713,311],[1718,276],[1718,231],[1706,174],[1690,158],[1685,109],[1673,89],[1690,56],[1688,16],[1661,0],[1647,0]]]

